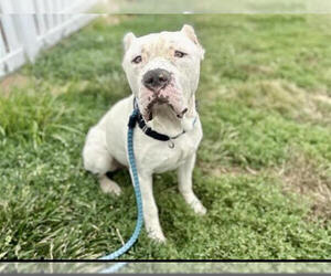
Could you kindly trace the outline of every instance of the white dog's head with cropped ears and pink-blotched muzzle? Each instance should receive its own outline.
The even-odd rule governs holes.
[[[122,67],[139,109],[148,121],[156,105],[167,105],[178,118],[188,112],[200,76],[204,50],[191,25],[178,32],[124,38]]]

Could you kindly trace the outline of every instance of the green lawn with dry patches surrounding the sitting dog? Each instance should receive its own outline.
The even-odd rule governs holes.
[[[173,172],[154,177],[167,244],[142,231],[126,259],[330,258],[331,18],[100,18],[0,83],[0,258],[88,258],[129,238],[136,202],[84,171],[86,132],[130,91],[121,39],[194,25],[206,50],[196,216]]]

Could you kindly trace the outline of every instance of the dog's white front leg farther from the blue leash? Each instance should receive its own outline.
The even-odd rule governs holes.
[[[200,200],[193,192],[192,188],[192,173],[195,163],[195,153],[188,158],[186,162],[179,167],[178,169],[178,181],[179,190],[183,195],[186,203],[194,210],[197,214],[205,214],[206,209],[202,205]]]

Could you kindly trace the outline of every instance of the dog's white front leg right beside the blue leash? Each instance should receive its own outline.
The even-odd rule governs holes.
[[[151,173],[138,173],[140,190],[141,190],[141,199],[142,199],[142,209],[143,209],[143,220],[146,231],[149,237],[158,241],[166,242],[166,237],[163,235],[160,221],[158,206],[153,197],[152,189],[152,174]]]

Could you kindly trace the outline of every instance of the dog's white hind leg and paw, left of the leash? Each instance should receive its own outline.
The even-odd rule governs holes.
[[[119,168],[106,147],[106,132],[99,126],[89,129],[83,149],[84,168],[98,176],[100,188],[105,193],[120,194],[119,185],[106,173]]]

